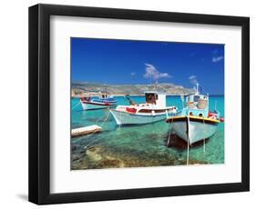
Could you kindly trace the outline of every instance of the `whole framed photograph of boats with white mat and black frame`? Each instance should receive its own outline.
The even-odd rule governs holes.
[[[29,7],[29,201],[250,189],[250,19]]]

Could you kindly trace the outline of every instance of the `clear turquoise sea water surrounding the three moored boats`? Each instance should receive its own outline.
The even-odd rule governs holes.
[[[123,96],[116,97],[118,104],[128,104]],[[143,96],[131,96],[137,103],[145,102]],[[109,167],[158,166],[185,164],[187,144],[178,140],[167,146],[169,124],[160,121],[118,127],[107,109],[83,111],[78,99],[72,99],[72,128],[90,124],[102,126],[102,133],[85,135],[71,139],[71,168],[95,169]],[[168,105],[181,108],[179,96],[168,96]],[[210,96],[210,110],[215,104],[224,116],[224,96]],[[192,145],[189,149],[190,164],[224,163],[224,123],[205,144]]]

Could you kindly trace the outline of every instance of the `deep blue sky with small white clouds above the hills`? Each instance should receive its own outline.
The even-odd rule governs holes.
[[[71,38],[72,82],[171,83],[224,95],[224,45]]]

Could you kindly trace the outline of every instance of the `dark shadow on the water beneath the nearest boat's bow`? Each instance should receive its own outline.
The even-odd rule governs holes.
[[[176,134],[168,134],[165,137],[165,143],[168,147],[171,148],[175,148],[175,149],[179,149],[179,150],[183,150],[183,149],[187,149],[188,148],[188,143],[185,142],[183,139],[181,139],[178,135]],[[205,144],[207,144],[209,142],[209,138],[205,139]],[[203,140],[196,142],[194,144],[191,144],[190,147],[191,148],[196,148],[196,147],[200,147],[204,144]]]

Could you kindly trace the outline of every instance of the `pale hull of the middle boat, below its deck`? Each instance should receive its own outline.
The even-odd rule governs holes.
[[[166,114],[130,114],[118,110],[110,110],[118,125],[151,124],[166,119]]]

